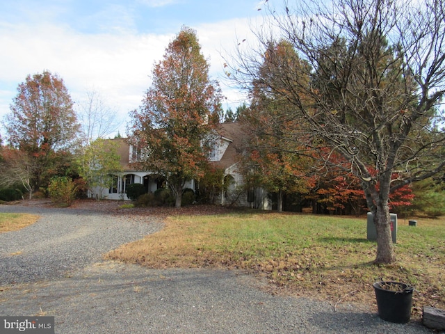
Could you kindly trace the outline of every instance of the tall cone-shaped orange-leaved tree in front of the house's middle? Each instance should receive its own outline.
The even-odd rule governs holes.
[[[203,175],[220,112],[220,88],[209,79],[195,31],[181,29],[152,80],[143,105],[131,112],[128,135],[144,152],[140,165],[165,177],[180,207],[185,182]]]

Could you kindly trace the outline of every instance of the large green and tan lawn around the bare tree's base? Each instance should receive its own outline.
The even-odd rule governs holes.
[[[373,303],[383,278],[416,287],[414,310],[445,307],[445,220],[399,220],[398,262],[376,266],[376,244],[366,239],[366,217],[276,213],[175,216],[165,228],[122,246],[108,258],[147,267],[227,267],[266,277],[274,289]]]

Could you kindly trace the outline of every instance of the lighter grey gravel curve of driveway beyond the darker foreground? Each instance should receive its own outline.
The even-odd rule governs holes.
[[[161,222],[147,216],[129,220],[86,209],[0,205],[0,212],[41,216],[22,230],[0,234],[0,285],[63,277],[162,227]]]

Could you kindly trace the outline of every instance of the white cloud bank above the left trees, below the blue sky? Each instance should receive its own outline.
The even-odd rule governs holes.
[[[26,75],[43,70],[58,73],[73,100],[95,87],[124,116],[142,100],[152,65],[161,59],[171,38],[172,35],[81,34],[51,24],[9,27],[7,34],[0,33],[0,45],[7,45],[0,55],[0,116],[8,112],[15,89]]]

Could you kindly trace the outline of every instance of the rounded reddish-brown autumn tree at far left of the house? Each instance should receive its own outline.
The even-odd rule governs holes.
[[[56,153],[68,150],[79,130],[63,79],[48,71],[19,84],[4,124],[10,145],[29,155],[32,191],[45,184]]]

